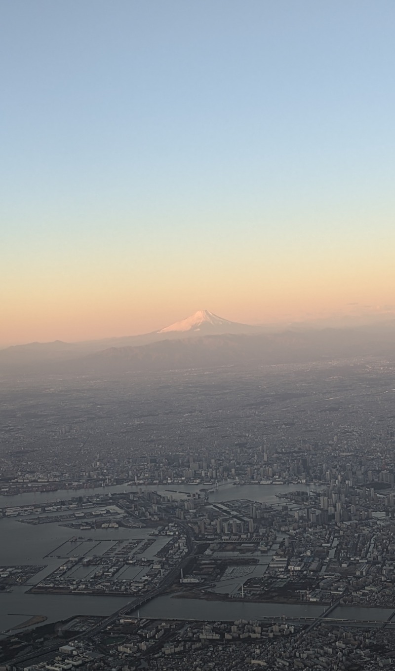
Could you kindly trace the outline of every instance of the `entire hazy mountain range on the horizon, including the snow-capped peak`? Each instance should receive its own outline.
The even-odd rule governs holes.
[[[0,351],[3,372],[122,372],[239,364],[279,364],[328,358],[395,358],[395,320],[348,329],[263,333],[199,310],[159,331],[87,342],[30,343]]]

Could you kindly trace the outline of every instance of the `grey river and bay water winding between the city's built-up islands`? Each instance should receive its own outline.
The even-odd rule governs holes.
[[[137,487],[138,488],[138,487]],[[173,497],[185,496],[202,489],[202,485],[169,485],[150,487],[159,493]],[[257,485],[248,484],[234,486],[227,482],[210,493],[209,500],[213,503],[232,501],[234,499],[250,499],[261,501],[269,505],[278,505],[281,499],[276,494],[305,489],[298,485]],[[142,487],[144,490],[144,487]],[[173,491],[169,491],[173,490]],[[64,490],[46,493],[27,493],[14,497],[0,497],[0,507],[20,505],[41,505],[53,501],[69,501],[78,496],[93,494],[122,493],[136,491],[136,486],[118,485],[112,487],[97,487],[80,491]],[[85,539],[93,541],[111,541],[113,539],[144,538],[150,529],[89,529],[79,531]],[[86,595],[40,595],[27,593],[32,584],[40,582],[42,578],[52,573],[64,561],[56,556],[56,548],[68,541],[73,535],[71,529],[60,524],[48,523],[29,525],[17,521],[15,518],[0,519],[0,565],[46,565],[28,584],[13,587],[10,592],[0,592],[0,632],[11,627],[17,627],[33,615],[44,615],[46,623],[64,620],[73,615],[109,615],[130,603],[130,597],[101,597]],[[257,566],[257,571],[264,572],[267,558]],[[249,576],[245,576],[247,579]],[[228,582],[221,586],[218,583],[218,592],[232,592],[235,586],[243,581],[243,576],[228,576]],[[206,601],[200,599],[177,599],[158,597],[140,609],[140,616],[174,618],[174,619],[202,619],[202,620],[236,620],[236,619],[265,619],[267,617],[317,617],[322,613],[320,605],[282,605],[278,603],[241,603],[239,601]],[[374,611],[374,613],[373,613]],[[355,607],[341,607],[337,610],[339,617],[345,619],[378,619],[386,620],[392,615],[393,609],[366,609]]]

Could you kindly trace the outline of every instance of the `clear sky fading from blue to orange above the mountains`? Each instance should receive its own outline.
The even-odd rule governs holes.
[[[0,346],[395,313],[393,0],[2,0]]]

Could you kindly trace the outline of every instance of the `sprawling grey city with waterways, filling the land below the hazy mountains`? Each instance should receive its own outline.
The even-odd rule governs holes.
[[[4,376],[0,668],[392,668],[394,372]]]

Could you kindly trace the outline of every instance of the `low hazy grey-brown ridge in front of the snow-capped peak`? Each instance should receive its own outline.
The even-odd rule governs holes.
[[[84,365],[97,372],[124,372],[295,364],[357,356],[395,356],[395,350],[386,342],[372,342],[363,333],[340,329],[310,333],[225,333],[161,340],[140,347],[109,348],[86,357]]]

